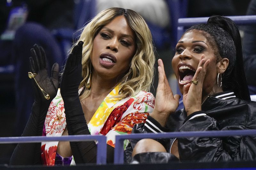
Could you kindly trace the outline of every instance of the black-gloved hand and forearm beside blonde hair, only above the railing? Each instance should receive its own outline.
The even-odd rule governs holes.
[[[78,96],[78,88],[82,79],[83,44],[83,41],[78,42],[68,55],[60,81],[60,93],[64,101],[69,135],[90,134]]]

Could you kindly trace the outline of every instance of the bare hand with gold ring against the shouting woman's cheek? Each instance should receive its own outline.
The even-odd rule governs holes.
[[[183,86],[183,104],[188,115],[201,110],[203,83],[209,62],[210,60],[205,60],[202,55],[193,77],[197,84],[188,83]]]

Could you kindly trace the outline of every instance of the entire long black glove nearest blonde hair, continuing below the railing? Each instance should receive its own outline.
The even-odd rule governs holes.
[[[78,96],[82,80],[83,41],[78,42],[69,54],[60,82],[60,93],[64,101],[68,135],[88,135],[90,131]],[[70,142],[76,164],[95,163],[97,147],[94,141]],[[113,162],[114,148],[108,146],[108,162]]]

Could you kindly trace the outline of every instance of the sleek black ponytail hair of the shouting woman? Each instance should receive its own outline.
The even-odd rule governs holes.
[[[244,73],[241,37],[236,24],[230,18],[212,16],[207,24],[194,25],[186,32],[194,29],[208,33],[214,39],[220,57],[229,60],[228,68],[222,74],[222,89],[233,90],[238,98],[251,100]]]

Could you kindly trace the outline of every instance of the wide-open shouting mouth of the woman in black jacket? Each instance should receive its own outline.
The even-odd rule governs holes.
[[[179,67],[179,83],[181,85],[188,84],[193,79],[196,70],[189,65],[180,65]]]

